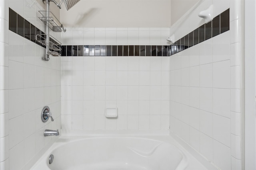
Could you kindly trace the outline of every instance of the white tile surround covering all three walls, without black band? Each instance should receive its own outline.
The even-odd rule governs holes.
[[[243,169],[243,0],[203,0],[171,28],[78,26],[51,35],[63,45],[169,45],[170,35],[177,41],[203,25],[197,14],[211,4],[213,16],[230,9],[230,30],[171,57],[45,62],[43,47],[8,30],[10,7],[44,31],[36,18],[41,4],[0,0],[0,169],[30,168],[56,141],[43,137],[44,129],[163,134],[169,126],[182,145],[220,169]],[[41,122],[45,105],[54,122]],[[105,118],[105,107],[118,107],[118,119]]]

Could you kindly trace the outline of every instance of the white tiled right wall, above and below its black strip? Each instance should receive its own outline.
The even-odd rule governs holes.
[[[217,16],[230,8],[230,31],[170,57],[171,130],[225,170],[241,170],[243,162],[241,3],[203,1],[194,11],[213,4]],[[176,40],[204,23],[196,13],[180,21]]]

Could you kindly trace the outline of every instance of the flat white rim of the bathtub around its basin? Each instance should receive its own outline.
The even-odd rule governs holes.
[[[122,135],[120,135],[121,132],[122,132]],[[62,133],[62,135],[60,137],[58,137],[58,139],[72,138],[72,139],[70,139],[70,141],[76,141],[76,140],[81,140],[81,139],[85,139],[85,138],[89,139],[89,138],[96,138],[96,137],[97,138],[100,138],[100,137],[135,137],[135,138],[151,139],[151,140],[155,140],[155,141],[167,142],[167,143],[174,145],[179,150],[181,150],[181,153],[184,154],[188,158],[188,167],[186,168],[186,170],[192,170],[193,166],[197,166],[197,165],[204,167],[205,169],[207,168],[208,170],[219,170],[218,167],[214,166],[214,164],[209,162],[206,158],[204,158],[204,156],[202,156],[199,152],[197,152],[192,147],[190,147],[190,145],[186,144],[182,139],[180,139],[178,136],[176,136],[171,131],[168,130],[167,135],[166,135],[166,132],[163,133],[164,135],[162,135],[161,133],[160,133],[161,135],[159,135],[159,133],[158,133],[158,135],[155,135],[156,132],[157,131],[149,132],[147,135],[145,135],[145,133],[143,133],[143,132],[138,133],[138,131],[136,131],[136,133],[132,133],[132,131],[130,131],[130,132],[127,132],[127,131],[126,132],[125,131],[120,131],[120,132],[98,131],[98,133],[93,133],[93,134],[87,133],[87,135],[85,135],[86,133],[79,133],[79,132],[77,132],[76,134]],[[154,135],[152,135],[152,134],[154,134]],[[56,140],[56,142],[58,141],[58,139]],[[30,166],[27,167],[26,170],[27,169],[32,170],[32,168],[34,168],[37,164],[40,163],[39,162],[40,158],[42,158],[43,156],[46,156],[46,155],[50,155],[50,152],[52,152],[52,150],[54,150],[55,148],[60,146],[60,143],[56,143],[56,142],[52,143],[48,150],[46,150],[43,154],[38,156],[38,159],[36,161],[34,161],[32,164],[30,164]],[[63,145],[64,144],[65,143],[63,143]],[[190,164],[192,164],[192,168],[189,168]]]

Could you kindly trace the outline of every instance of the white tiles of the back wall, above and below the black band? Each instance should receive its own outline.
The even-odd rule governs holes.
[[[64,45],[72,45],[68,39],[82,35],[84,40],[79,40],[80,45],[166,45],[170,30],[84,28],[82,33],[77,29],[68,28],[72,33],[62,34]],[[169,60],[169,57],[62,57],[62,115],[65,115],[62,119],[72,123],[66,115],[73,122],[78,121],[74,115],[83,115],[79,127],[64,125],[65,130],[169,129],[166,121]],[[106,119],[105,107],[118,107],[120,117]]]

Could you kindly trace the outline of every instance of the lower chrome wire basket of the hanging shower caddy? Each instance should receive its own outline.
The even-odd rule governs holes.
[[[49,41],[47,41],[47,39],[46,39],[47,36],[49,37]],[[54,37],[52,37],[51,35],[37,34],[36,41],[38,41],[42,45],[45,45],[46,47],[49,48],[50,51],[47,51],[48,55],[60,56],[61,43],[58,40],[56,40]]]

